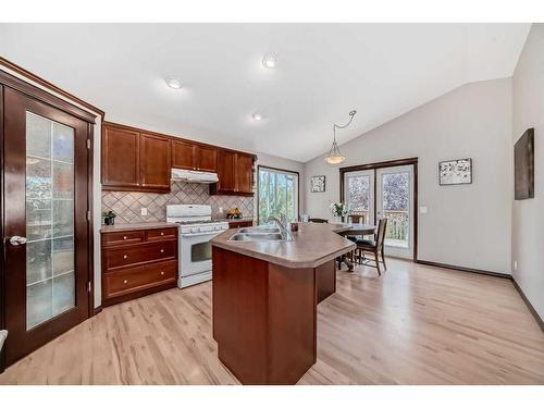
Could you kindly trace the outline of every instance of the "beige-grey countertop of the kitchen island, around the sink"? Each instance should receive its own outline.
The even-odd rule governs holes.
[[[316,268],[356,248],[337,233],[348,230],[347,224],[298,223],[289,242],[232,242],[235,233],[225,231],[211,239],[219,248],[261,259],[287,268]]]

